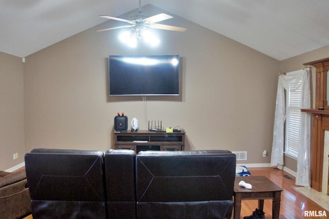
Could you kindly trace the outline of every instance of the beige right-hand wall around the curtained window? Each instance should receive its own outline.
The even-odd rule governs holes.
[[[303,67],[303,63],[324,59],[329,57],[329,46],[325,46],[310,52],[301,54],[290,59],[286,59],[280,62],[280,70],[284,72],[299,70]],[[315,107],[315,68],[311,69],[310,80],[311,80],[311,96],[312,96],[312,107]],[[297,161],[290,157],[285,157],[285,166],[290,170],[297,171]]]

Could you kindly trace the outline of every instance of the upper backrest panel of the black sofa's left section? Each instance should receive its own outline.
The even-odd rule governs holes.
[[[35,149],[25,155],[31,199],[104,202],[103,152]]]

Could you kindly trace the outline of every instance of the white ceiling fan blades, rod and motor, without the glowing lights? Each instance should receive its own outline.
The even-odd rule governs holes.
[[[121,21],[128,23],[127,25],[119,26],[119,27],[111,27],[111,28],[106,28],[106,29],[101,29],[97,31],[106,31],[106,30],[113,30],[113,29],[119,29],[119,28],[126,28],[126,27],[133,27],[136,30],[136,35],[138,37],[142,36],[142,32],[144,27],[150,27],[154,29],[162,29],[162,30],[172,30],[172,31],[185,31],[187,30],[184,27],[176,27],[176,26],[170,26],[170,25],[165,25],[165,24],[157,24],[157,22],[160,21],[165,21],[168,19],[172,19],[173,16],[170,16],[165,13],[160,13],[151,17],[145,16],[141,12],[141,0],[139,0],[139,10],[138,13],[132,14],[131,15],[131,20],[125,20],[125,19],[120,19],[119,17],[112,17],[108,15],[99,15],[99,17],[103,17],[105,19],[112,19],[116,21]]]

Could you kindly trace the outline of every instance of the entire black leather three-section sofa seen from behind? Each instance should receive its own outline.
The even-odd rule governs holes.
[[[25,155],[36,218],[230,218],[235,154],[34,149]]]

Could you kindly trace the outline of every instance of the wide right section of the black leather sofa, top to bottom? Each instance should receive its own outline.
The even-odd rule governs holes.
[[[137,218],[230,218],[235,162],[229,151],[140,152]]]

